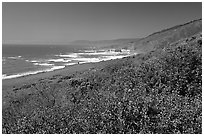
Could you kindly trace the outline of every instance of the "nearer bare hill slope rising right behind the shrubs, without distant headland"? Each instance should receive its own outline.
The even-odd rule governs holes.
[[[148,52],[158,46],[165,46],[201,32],[202,19],[198,19],[153,33],[136,42],[132,42],[131,46],[133,46],[136,51]]]

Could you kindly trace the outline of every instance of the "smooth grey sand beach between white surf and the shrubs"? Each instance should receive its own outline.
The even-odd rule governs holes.
[[[12,79],[4,79],[2,80],[2,106],[3,108],[7,106],[9,102],[9,97],[14,96],[20,96],[24,94],[33,93],[32,89],[29,88],[24,89],[24,86],[31,85],[31,84],[39,84],[42,81],[46,81],[48,83],[53,81],[58,81],[60,78],[63,78],[65,76],[70,75],[76,75],[83,73],[85,71],[90,71],[94,69],[98,69],[100,67],[103,67],[106,64],[113,63],[120,59],[114,59],[114,60],[107,60],[107,61],[101,61],[101,62],[95,62],[95,63],[83,63],[83,64],[76,64],[76,65],[70,65],[66,66],[63,69],[57,69],[54,71],[49,72],[42,72],[37,73],[34,75],[26,75],[22,77],[12,78]],[[18,90],[18,91],[15,91]]]

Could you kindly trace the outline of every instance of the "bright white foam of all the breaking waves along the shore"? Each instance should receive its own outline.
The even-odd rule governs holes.
[[[108,52],[108,53],[107,53]],[[127,53],[128,52],[128,53]],[[135,53],[130,53],[129,50],[122,50],[122,54],[118,54],[118,52],[110,52],[109,50],[105,51],[105,52],[85,52],[85,53],[70,53],[69,55],[55,55],[55,56],[60,56],[60,60],[64,63],[67,56],[70,57],[70,55],[73,56],[73,54],[77,54],[77,56],[80,56],[81,54],[85,54],[85,55],[93,55],[93,54],[107,54],[108,56],[100,56],[100,57],[94,57],[94,58],[86,58],[86,57],[77,57],[77,58],[72,58],[69,61],[77,61],[77,62],[72,62],[72,63],[67,63],[65,65],[55,65],[50,64],[50,61],[54,61],[54,62],[58,62],[59,59],[48,59],[47,61],[49,62],[40,62],[39,60],[35,60],[35,61],[29,61],[29,60],[25,60],[28,62],[39,62],[39,63],[33,63],[33,65],[51,65],[52,67],[50,68],[42,68],[42,69],[36,69],[36,70],[31,70],[31,71],[25,71],[25,72],[20,72],[20,73],[13,73],[13,74],[6,74],[4,73],[2,75],[2,80],[8,80],[8,79],[14,79],[14,78],[20,78],[20,77],[24,77],[24,76],[30,76],[30,75],[35,75],[35,74],[40,74],[40,73],[46,73],[46,72],[52,72],[52,71],[56,71],[56,70],[60,70],[60,69],[64,69],[67,66],[71,66],[71,65],[77,65],[77,64],[84,64],[84,63],[97,63],[97,62],[101,62],[101,61],[108,61],[108,60],[114,60],[114,59],[120,59],[120,58],[124,58],[124,57],[128,57],[128,56],[132,56]],[[110,55],[110,53],[114,53],[115,55]],[[127,53],[127,54],[126,54]],[[117,55],[116,55],[117,54]],[[62,56],[66,56],[66,57],[62,57]],[[22,57],[22,56],[20,56]],[[19,58],[19,56],[17,56],[17,58]],[[67,61],[67,60],[66,60]],[[42,63],[42,64],[41,64]]]

